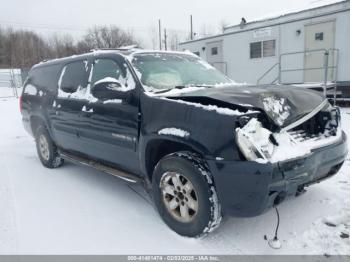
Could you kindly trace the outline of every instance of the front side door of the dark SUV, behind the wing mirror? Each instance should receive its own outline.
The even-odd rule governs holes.
[[[89,128],[81,134],[89,156],[118,165],[126,171],[138,171],[138,97],[135,81],[120,59],[96,58],[93,61],[91,89],[101,81],[121,83],[120,97],[95,98],[82,112]],[[92,96],[91,92],[91,96]]]

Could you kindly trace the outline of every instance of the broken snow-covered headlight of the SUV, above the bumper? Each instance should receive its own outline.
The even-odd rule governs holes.
[[[236,143],[247,160],[267,161],[274,151],[272,133],[255,118],[243,128],[236,129]]]

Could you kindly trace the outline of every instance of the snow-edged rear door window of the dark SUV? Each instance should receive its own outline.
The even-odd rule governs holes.
[[[86,89],[89,79],[87,61],[77,61],[66,65],[58,82],[60,91],[73,94]]]

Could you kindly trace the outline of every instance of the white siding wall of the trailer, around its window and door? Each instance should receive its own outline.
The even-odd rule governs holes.
[[[259,77],[278,62],[280,54],[305,50],[305,25],[334,20],[334,46],[340,50],[338,81],[350,81],[350,11],[320,16],[324,13],[346,8],[350,8],[350,1],[340,5],[286,15],[278,19],[247,24],[243,29],[239,26],[231,27],[221,36],[183,43],[180,44],[180,47],[181,49],[195,52],[205,47],[208,42],[223,39],[222,62],[227,64],[227,75],[237,82],[255,84]],[[287,21],[291,22],[285,23]],[[273,25],[277,22],[280,24]],[[268,33],[264,33],[266,28],[268,28]],[[297,33],[299,30],[300,34]],[[270,39],[276,40],[275,56],[251,59],[250,43]],[[207,60],[205,52],[200,55]],[[284,69],[303,68],[304,54],[284,56],[282,67]],[[262,83],[272,82],[277,75],[278,68],[276,66],[274,70],[264,77]],[[282,74],[283,82],[303,82],[303,80],[303,71]]]

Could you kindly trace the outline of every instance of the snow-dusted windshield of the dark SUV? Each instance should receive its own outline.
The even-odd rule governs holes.
[[[141,74],[142,84],[150,91],[234,84],[207,62],[190,54],[142,53],[136,54],[132,63]]]

